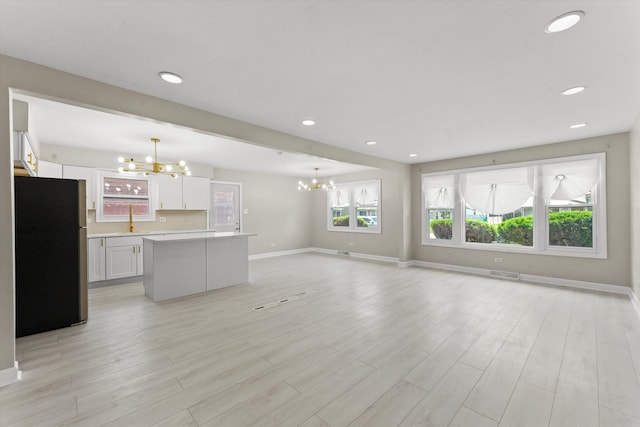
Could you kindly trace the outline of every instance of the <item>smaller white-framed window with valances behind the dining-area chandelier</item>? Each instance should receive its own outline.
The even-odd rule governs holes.
[[[327,192],[327,229],[379,233],[379,196],[380,180],[336,185]]]

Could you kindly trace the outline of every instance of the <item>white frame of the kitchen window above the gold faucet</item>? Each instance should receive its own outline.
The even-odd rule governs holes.
[[[104,201],[105,199],[132,199],[132,200],[146,200],[149,204],[149,213],[147,215],[133,215],[133,221],[142,222],[142,221],[155,221],[156,220],[156,209],[155,209],[155,179],[152,179],[150,176],[144,176],[137,173],[128,173],[128,172],[111,172],[111,171],[98,171],[98,203],[96,205],[96,222],[128,222],[129,215],[104,215]],[[146,196],[111,196],[105,195],[104,193],[104,180],[105,178],[118,178],[118,179],[132,179],[139,181],[147,182],[147,195]]]

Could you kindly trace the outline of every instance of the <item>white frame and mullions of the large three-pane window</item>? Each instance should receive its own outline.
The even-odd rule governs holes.
[[[549,244],[549,214],[548,207],[553,206],[547,204],[542,197],[542,182],[538,179],[542,165],[554,163],[564,163],[580,160],[596,159],[598,161],[599,179],[592,190],[592,227],[593,227],[593,247],[564,247],[552,246]],[[460,185],[463,176],[466,173],[477,171],[490,171],[499,169],[508,169],[513,167],[532,167],[534,168],[535,181],[533,189],[533,246],[517,246],[504,243],[477,243],[466,242],[465,240],[465,219],[466,219],[466,203]],[[451,175],[456,177],[455,205],[452,210],[452,238],[451,240],[436,239],[429,237],[427,228],[427,211],[425,204],[424,183],[429,177],[440,175]],[[579,258],[607,258],[607,201],[606,201],[606,153],[592,153],[576,156],[558,157],[544,160],[535,160],[528,162],[508,163],[499,166],[485,166],[477,168],[444,170],[440,172],[425,172],[421,174],[421,244],[423,246],[440,246],[449,248],[488,250],[497,252],[512,252],[535,255],[552,255],[552,256],[570,256]]]

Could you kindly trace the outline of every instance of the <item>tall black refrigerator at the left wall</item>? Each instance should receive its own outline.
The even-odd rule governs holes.
[[[86,322],[85,181],[14,182],[16,337]]]

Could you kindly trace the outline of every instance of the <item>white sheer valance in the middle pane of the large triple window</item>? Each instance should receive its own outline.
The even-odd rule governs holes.
[[[519,209],[531,197],[533,168],[518,167],[463,175],[462,195],[480,212],[502,215]]]

